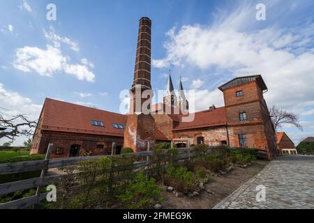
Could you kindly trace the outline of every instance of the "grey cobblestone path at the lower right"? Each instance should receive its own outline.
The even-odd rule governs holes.
[[[257,185],[266,187],[256,201]],[[241,185],[214,209],[314,208],[314,156],[281,156]]]

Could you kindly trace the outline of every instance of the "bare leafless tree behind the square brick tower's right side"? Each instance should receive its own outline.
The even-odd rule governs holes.
[[[299,115],[294,112],[286,112],[283,109],[273,106],[269,109],[269,114],[275,130],[282,128],[284,123],[294,125],[299,128],[299,130],[303,130],[302,125],[299,122]]]

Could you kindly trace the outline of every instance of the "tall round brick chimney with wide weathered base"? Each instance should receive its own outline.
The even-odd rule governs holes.
[[[130,89],[130,113],[124,130],[124,148],[147,150],[156,141],[155,121],[150,114],[151,98],[151,20],[140,19],[133,84]]]

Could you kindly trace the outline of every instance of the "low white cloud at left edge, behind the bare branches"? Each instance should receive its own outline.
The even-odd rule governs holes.
[[[34,103],[31,99],[20,95],[14,91],[8,91],[0,83],[0,112],[6,117],[12,117],[17,114],[24,114],[31,121],[36,121],[39,117],[42,105]],[[15,145],[22,145],[25,137],[17,138]],[[8,139],[0,139],[0,144]]]

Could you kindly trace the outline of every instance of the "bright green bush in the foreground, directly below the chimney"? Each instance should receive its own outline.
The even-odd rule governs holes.
[[[156,180],[154,178],[147,180],[141,171],[127,185],[124,194],[118,195],[117,198],[123,203],[124,208],[152,208],[155,199],[162,199],[160,192],[161,188],[156,185]]]

